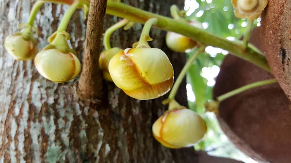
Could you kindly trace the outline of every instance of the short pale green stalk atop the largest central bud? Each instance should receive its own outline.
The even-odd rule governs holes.
[[[139,43],[136,47],[149,47],[147,44],[147,41],[151,41],[152,39],[149,37],[149,31],[152,27],[152,25],[156,25],[158,23],[157,18],[150,18],[146,21],[146,24],[143,28]]]

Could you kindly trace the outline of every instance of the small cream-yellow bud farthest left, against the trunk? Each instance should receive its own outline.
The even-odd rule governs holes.
[[[22,36],[21,33],[8,36],[5,39],[4,47],[16,60],[34,59],[38,52],[38,47],[34,39]]]

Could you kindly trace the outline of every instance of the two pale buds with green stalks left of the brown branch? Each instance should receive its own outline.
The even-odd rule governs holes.
[[[70,35],[65,32],[65,29],[75,10],[81,6],[86,15],[88,6],[81,1],[74,1],[65,13],[58,31],[49,37],[49,45],[38,53],[37,41],[33,37],[34,34],[38,34],[38,31],[32,24],[43,3],[42,0],[35,2],[29,22],[20,25],[20,28],[24,27],[20,32],[8,36],[4,46],[17,60],[34,59],[37,71],[45,78],[58,83],[66,82],[80,73],[81,63],[76,52],[67,43]]]

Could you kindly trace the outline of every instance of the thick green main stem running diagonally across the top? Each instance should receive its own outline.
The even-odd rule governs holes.
[[[63,0],[62,3],[70,5],[73,1],[74,0]],[[58,3],[58,1],[55,2]],[[156,17],[158,18],[158,23],[154,26],[155,28],[166,31],[173,31],[175,33],[189,37],[197,42],[222,48],[229,51],[231,54],[247,60],[270,72],[267,59],[260,51],[256,50],[251,45],[248,45],[247,48],[244,49],[242,47],[242,42],[229,41],[226,38],[213,35],[206,30],[195,28],[189,25],[187,22],[181,22],[179,20],[174,20],[165,16],[146,12],[113,0],[107,2],[106,14],[119,16],[128,19],[129,21],[142,24],[145,24],[148,19]]]

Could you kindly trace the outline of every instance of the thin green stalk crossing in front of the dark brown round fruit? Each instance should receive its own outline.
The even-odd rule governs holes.
[[[230,92],[227,92],[221,96],[218,96],[217,97],[217,101],[218,102],[221,102],[231,96],[234,96],[234,95],[237,95],[245,90],[248,90],[248,89],[252,89],[252,88],[255,88],[255,87],[259,87],[259,86],[264,86],[264,85],[268,85],[268,84],[273,84],[273,83],[276,83],[277,80],[276,79],[269,79],[269,80],[263,80],[263,81],[259,81],[259,82],[255,82],[255,83],[252,83],[252,84],[248,84],[246,86],[243,86],[241,88],[238,88],[238,89],[234,89]]]

